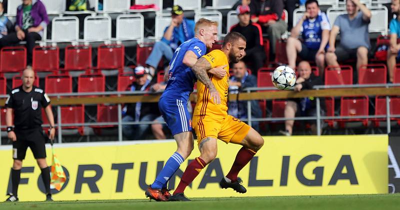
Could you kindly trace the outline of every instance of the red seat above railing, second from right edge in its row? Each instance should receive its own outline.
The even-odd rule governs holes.
[[[358,70],[358,84],[383,84],[386,83],[385,64],[361,65]]]

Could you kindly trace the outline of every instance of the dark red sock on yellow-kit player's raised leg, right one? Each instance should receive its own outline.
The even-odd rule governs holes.
[[[239,171],[253,158],[255,152],[248,150],[242,147],[239,152],[237,152],[236,158],[234,159],[232,168],[229,173],[226,175],[226,178],[231,180],[232,182],[237,181],[237,175]]]

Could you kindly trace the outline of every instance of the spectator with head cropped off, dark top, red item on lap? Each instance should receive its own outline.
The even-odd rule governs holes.
[[[286,31],[283,0],[251,0],[251,21],[261,25],[268,34],[271,55],[275,54],[276,40]]]

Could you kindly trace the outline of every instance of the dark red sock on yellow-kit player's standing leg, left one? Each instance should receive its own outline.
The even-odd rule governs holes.
[[[205,162],[201,160],[201,158],[196,158],[195,160],[191,161],[190,164],[187,166],[186,170],[182,175],[182,179],[180,179],[178,187],[173,192],[173,195],[178,193],[183,193],[184,189],[193,182],[194,178],[200,173],[201,169],[205,167]]]

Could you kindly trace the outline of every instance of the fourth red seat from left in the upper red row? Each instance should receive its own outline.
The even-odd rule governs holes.
[[[101,44],[97,48],[98,69],[118,69],[122,72],[125,48],[121,44]]]

